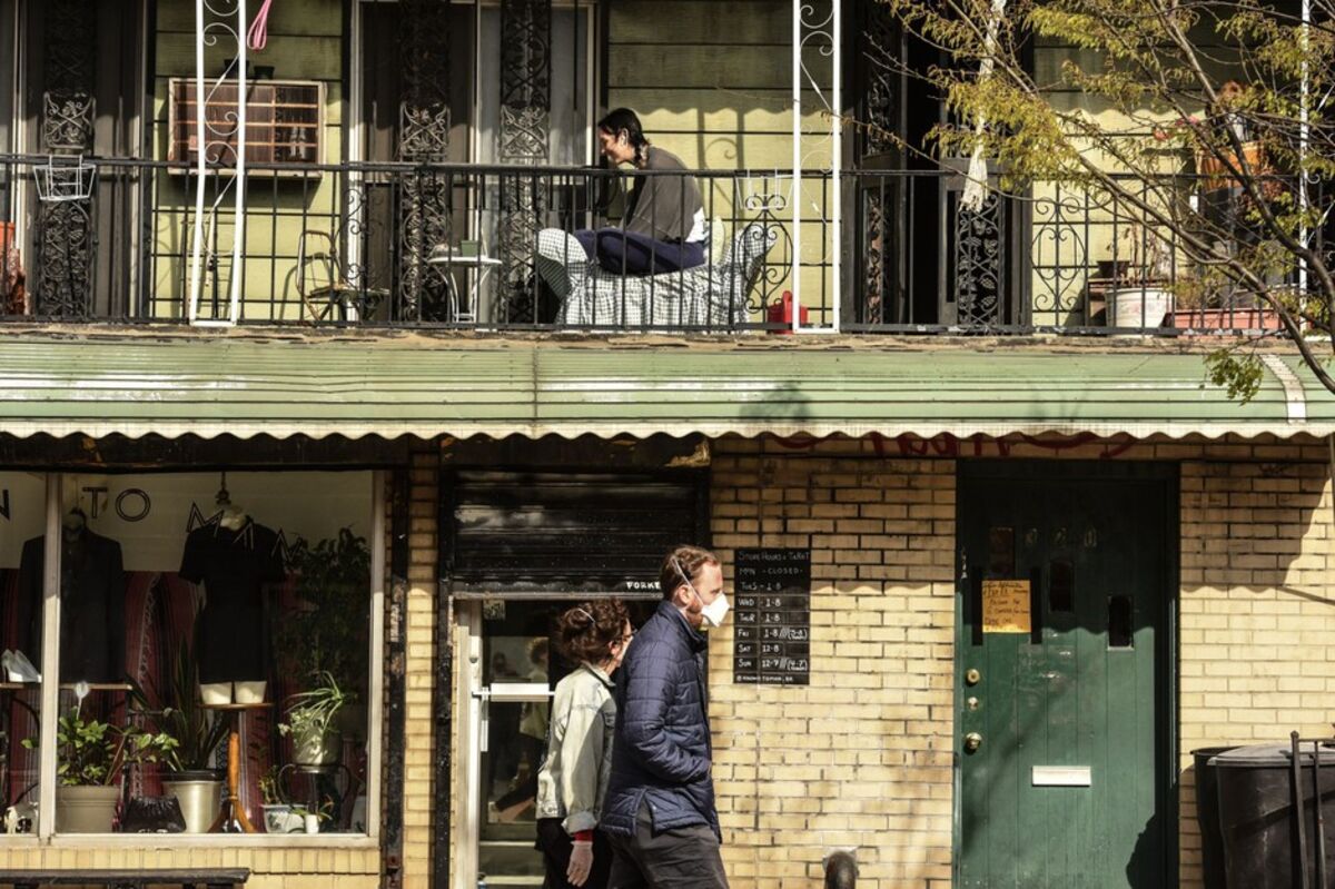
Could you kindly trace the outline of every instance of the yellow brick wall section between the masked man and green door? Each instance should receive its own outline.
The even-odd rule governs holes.
[[[733,685],[710,641],[714,785],[733,889],[951,885],[955,462],[720,443],[713,542],[812,547],[808,687]]]

